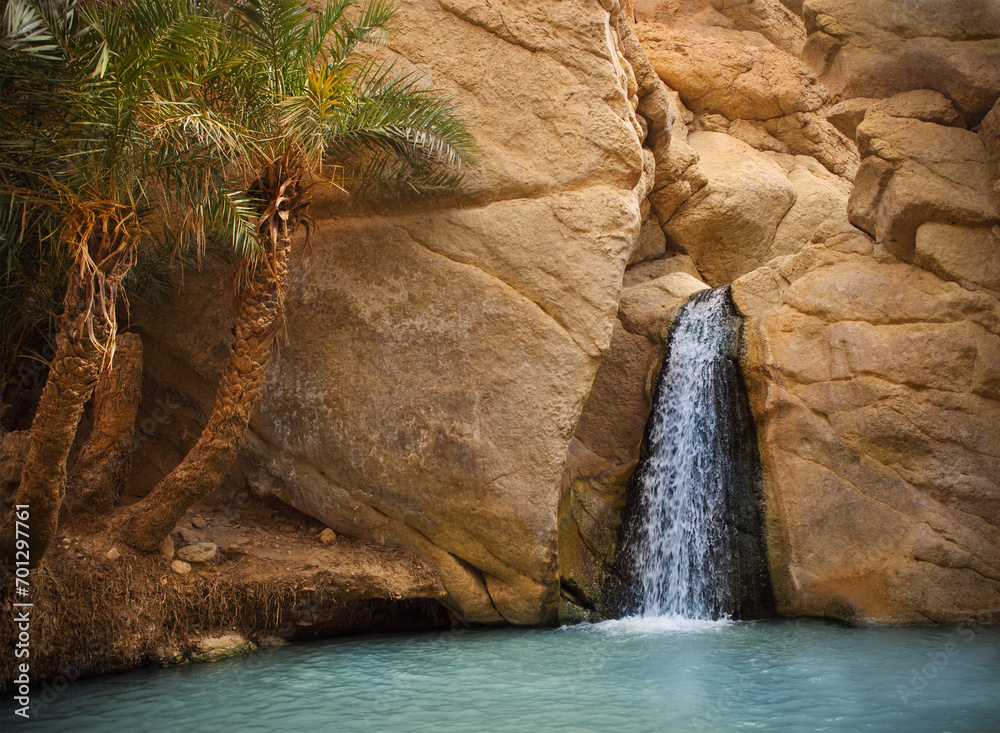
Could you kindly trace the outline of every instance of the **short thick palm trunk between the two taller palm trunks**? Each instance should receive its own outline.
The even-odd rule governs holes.
[[[115,359],[94,390],[94,426],[69,472],[63,514],[107,514],[132,469],[135,416],[142,396],[142,339],[119,334]]]

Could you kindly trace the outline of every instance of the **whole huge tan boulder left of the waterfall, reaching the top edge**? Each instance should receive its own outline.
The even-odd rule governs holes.
[[[653,184],[618,14],[399,4],[405,30],[381,52],[453,96],[478,164],[457,202],[317,202],[287,342],[230,478],[412,550],[472,621],[558,613],[563,464]],[[143,318],[160,391],[185,405],[210,403],[228,333],[214,281],[196,281]]]

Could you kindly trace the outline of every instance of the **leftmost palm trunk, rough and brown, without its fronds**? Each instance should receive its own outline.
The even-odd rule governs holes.
[[[28,455],[21,472],[15,505],[27,506],[27,539],[31,566],[42,559],[56,535],[59,507],[66,489],[66,459],[83,407],[90,399],[103,353],[88,332],[87,300],[79,279],[72,275],[66,288],[61,333],[56,336],[56,354],[49,365],[45,388],[31,423]],[[94,320],[98,341],[107,332],[106,324]],[[3,527],[0,546],[5,557],[14,556],[14,508]],[[22,526],[23,529],[23,526]],[[23,557],[23,556],[22,556]]]

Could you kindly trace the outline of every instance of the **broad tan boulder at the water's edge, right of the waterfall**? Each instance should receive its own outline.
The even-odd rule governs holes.
[[[1000,301],[817,238],[733,283],[779,611],[996,622]]]

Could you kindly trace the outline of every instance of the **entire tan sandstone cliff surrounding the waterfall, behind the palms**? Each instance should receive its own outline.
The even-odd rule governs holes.
[[[411,550],[472,621],[578,618],[670,314],[733,283],[781,610],[995,618],[996,15],[402,3],[388,53],[463,110],[469,192],[321,206],[229,483]],[[225,353],[218,277],[188,285],[139,318],[144,415],[175,407],[138,489],[197,434]]]

